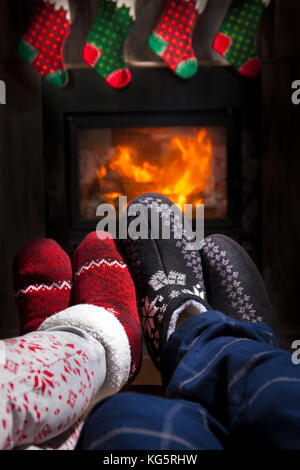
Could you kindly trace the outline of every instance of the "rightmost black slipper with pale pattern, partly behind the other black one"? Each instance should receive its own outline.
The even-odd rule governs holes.
[[[236,320],[264,322],[279,333],[263,279],[246,251],[225,235],[211,235],[200,249],[207,298],[214,310]]]

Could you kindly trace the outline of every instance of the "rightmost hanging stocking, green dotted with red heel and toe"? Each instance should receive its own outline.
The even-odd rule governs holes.
[[[214,49],[246,77],[261,69],[256,50],[256,32],[270,0],[233,0],[214,41]]]

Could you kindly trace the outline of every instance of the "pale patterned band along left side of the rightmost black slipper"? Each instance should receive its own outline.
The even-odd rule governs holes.
[[[244,293],[246,286],[242,285],[239,273],[234,271],[233,265],[226,258],[226,251],[221,250],[211,238],[204,240],[202,250],[219,273],[230,304],[241,315],[241,319],[252,323],[262,322],[263,318],[254,309],[251,296]]]

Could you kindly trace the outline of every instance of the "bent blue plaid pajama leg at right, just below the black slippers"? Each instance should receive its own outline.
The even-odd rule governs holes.
[[[225,447],[300,449],[300,366],[271,329],[220,313],[183,322],[163,351],[169,399],[199,403]]]

